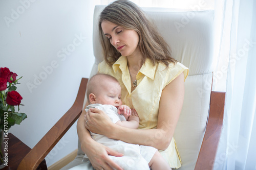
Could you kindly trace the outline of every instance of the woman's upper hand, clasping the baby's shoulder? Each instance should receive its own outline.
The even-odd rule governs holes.
[[[90,108],[86,115],[84,115],[84,125],[93,133],[108,136],[112,131],[110,127],[113,123],[104,111]]]

